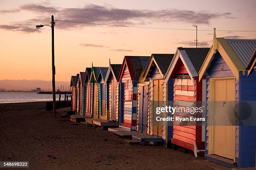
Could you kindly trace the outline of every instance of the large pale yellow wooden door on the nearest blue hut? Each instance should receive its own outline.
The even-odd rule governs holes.
[[[212,80],[212,154],[234,159],[235,80]]]

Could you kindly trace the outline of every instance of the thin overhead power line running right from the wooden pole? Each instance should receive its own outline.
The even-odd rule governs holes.
[[[187,30],[187,31],[195,31],[194,29],[185,29],[185,28],[160,28],[160,27],[139,27],[139,26],[131,26],[131,25],[112,25],[112,24],[100,24],[100,23],[87,23],[87,22],[78,22],[78,21],[67,21],[67,20],[55,20],[66,23],[79,23],[79,24],[90,24],[90,25],[106,25],[106,26],[114,26],[114,27],[128,27],[128,28],[146,28],[146,29],[159,29],[159,30]],[[197,30],[197,31],[213,31],[213,30]],[[218,30],[222,32],[256,32],[256,30]]]

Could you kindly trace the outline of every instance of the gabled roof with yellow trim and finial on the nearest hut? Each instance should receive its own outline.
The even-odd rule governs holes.
[[[205,71],[210,66],[212,59],[218,51],[233,75],[239,80],[239,71],[246,70],[255,48],[256,39],[225,39],[214,37],[210,52],[200,69],[199,78],[201,79],[205,74]]]

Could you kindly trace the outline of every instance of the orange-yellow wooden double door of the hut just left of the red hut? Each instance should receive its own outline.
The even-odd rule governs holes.
[[[163,80],[153,81],[153,135],[163,136],[163,121],[156,121],[156,107],[162,107],[163,102]],[[162,117],[162,115],[158,115]]]

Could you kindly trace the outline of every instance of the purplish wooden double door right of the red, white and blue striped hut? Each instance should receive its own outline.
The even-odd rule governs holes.
[[[140,86],[139,89],[139,117],[138,131],[147,133],[148,123],[148,86]]]

